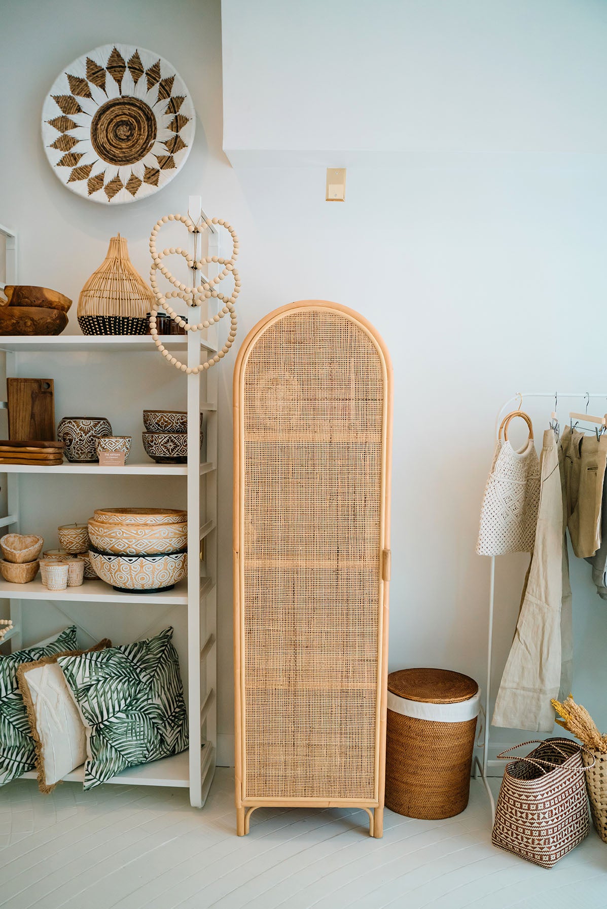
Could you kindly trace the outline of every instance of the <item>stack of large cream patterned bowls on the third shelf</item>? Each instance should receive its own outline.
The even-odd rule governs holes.
[[[187,575],[187,512],[97,508],[88,522],[96,574],[115,590],[169,590]]]

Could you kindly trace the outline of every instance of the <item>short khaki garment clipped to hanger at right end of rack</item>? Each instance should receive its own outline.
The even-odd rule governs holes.
[[[590,558],[601,546],[602,484],[607,463],[607,435],[583,435],[565,428],[564,491],[573,552]]]

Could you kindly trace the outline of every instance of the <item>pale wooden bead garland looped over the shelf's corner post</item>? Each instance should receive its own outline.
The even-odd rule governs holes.
[[[210,225],[220,225],[225,227],[228,230],[228,233],[232,237],[232,255],[229,259],[222,259],[218,255],[204,256],[201,259],[193,258],[187,253],[186,250],[181,249],[180,246],[169,246],[167,249],[164,249],[161,253],[157,252],[156,238],[160,228],[163,224],[167,224],[168,221],[180,221],[182,224],[187,226],[187,230],[190,234],[202,234],[207,230],[207,227]],[[237,317],[236,317],[236,308],[235,304],[240,293],[240,277],[238,275],[238,269],[236,268],[235,262],[238,258],[238,235],[232,225],[229,225],[227,221],[224,221],[223,218],[213,218],[212,220],[204,219],[201,224],[195,225],[190,217],[186,215],[164,215],[159,218],[156,225],[152,228],[152,233],[149,237],[149,252],[152,256],[152,266],[150,269],[149,283],[152,285],[152,290],[156,296],[156,305],[152,306],[152,310],[149,317],[149,333],[154,340],[154,344],[157,346],[157,349],[160,353],[167,359],[167,362],[171,365],[174,365],[177,369],[180,369],[182,372],[190,375],[194,373],[197,375],[203,369],[209,369],[211,366],[219,362],[227,353],[229,348],[234,343],[234,338],[237,333]],[[205,265],[209,263],[217,263],[218,265],[223,265],[223,269],[219,275],[216,275],[214,278],[205,278],[203,284],[198,285],[197,287],[188,287],[177,281],[171,273],[168,271],[166,265],[162,265],[162,260],[167,255],[181,255],[185,258],[187,262],[187,267],[191,268],[193,271],[202,269]],[[196,255],[196,251],[195,251]],[[157,271],[163,275],[167,281],[172,284],[174,287],[177,287],[177,290],[168,291],[167,294],[162,294],[157,285]],[[220,281],[223,281],[225,277],[232,275],[234,279],[234,289],[230,296],[220,294],[218,290],[215,290],[215,285],[218,285]],[[206,319],[204,322],[199,322],[197,325],[190,324],[183,319],[175,310],[167,303],[168,299],[178,298],[183,300],[188,306],[198,306],[204,300],[208,300],[210,297],[216,297],[218,300],[224,304],[223,308],[219,310],[217,315],[213,315],[211,318]],[[197,366],[187,366],[184,363],[180,363],[177,360],[177,357],[172,356],[170,351],[167,351],[164,345],[160,343],[160,339],[157,331],[157,313],[158,306],[162,306],[168,316],[173,319],[177,325],[180,325],[181,328],[185,328],[187,332],[200,332],[204,331],[205,328],[209,328],[211,325],[215,325],[219,322],[220,319],[223,319],[224,315],[229,315],[230,319],[230,329],[228,333],[228,339],[218,351],[218,353],[207,360],[205,363],[201,363]]]

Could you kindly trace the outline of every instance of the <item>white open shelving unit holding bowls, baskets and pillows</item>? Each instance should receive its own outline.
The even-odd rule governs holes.
[[[200,321],[198,308],[191,309],[189,318]],[[216,330],[217,333],[217,330]],[[207,333],[210,335],[210,332]],[[200,357],[217,348],[212,341],[201,340],[199,333],[186,337],[171,335],[163,338],[167,349],[187,353],[187,365],[195,366]],[[128,353],[131,356],[154,356],[160,361],[154,343],[149,335],[141,336],[39,336],[0,337],[0,351],[6,355],[6,375],[19,375],[19,355],[35,353],[37,357],[46,354],[98,353],[113,357]],[[85,358],[86,359],[86,358]],[[116,369],[121,368],[116,357]],[[158,362],[158,368],[166,365]],[[22,646],[23,610],[32,608],[36,602],[63,604],[122,604],[125,608],[142,604],[165,604],[167,607],[183,605],[187,610],[187,690],[189,714],[189,751],[174,757],[134,767],[118,774],[111,780],[114,784],[163,785],[189,788],[191,804],[201,807],[207,798],[208,789],[215,771],[217,749],[217,459],[218,459],[218,379],[216,370],[203,375],[206,381],[206,395],[200,394],[201,378],[187,375],[187,464],[126,464],[124,467],[100,467],[98,464],[61,464],[54,467],[4,464],[0,468],[6,474],[8,514],[0,519],[0,527],[8,531],[19,530],[19,487],[25,474],[45,474],[48,483],[53,483],[57,474],[73,474],[74,482],[85,482],[92,476],[112,477],[117,474],[150,477],[181,476],[187,483],[187,580],[176,584],[173,590],[156,594],[125,594],[116,592],[101,580],[85,581],[82,587],[68,588],[59,593],[48,591],[35,580],[30,584],[8,584],[0,580],[0,598],[10,602],[10,616],[15,629],[6,636],[13,650]],[[61,377],[56,377],[61,382]],[[5,404],[4,404],[5,406]],[[207,461],[200,461],[199,414],[206,415]],[[153,497],[152,484],[150,498]],[[202,502],[201,504],[201,494]],[[150,502],[150,504],[154,504]],[[4,531],[6,532],[6,531]],[[201,576],[201,546],[205,546],[204,565],[206,575]],[[84,627],[84,626],[83,626]],[[86,629],[85,629],[86,630]],[[111,629],[109,629],[111,633]],[[185,667],[182,666],[182,671]],[[25,774],[35,777],[35,773]],[[66,776],[66,780],[81,780],[83,768]]]

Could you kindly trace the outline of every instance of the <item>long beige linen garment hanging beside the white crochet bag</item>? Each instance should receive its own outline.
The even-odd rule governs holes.
[[[561,686],[561,656],[569,660],[571,641],[567,608],[563,615],[565,651],[561,649],[561,598],[563,589],[563,514],[559,454],[554,433],[547,429],[541,449],[541,493],[535,544],[527,587],[511,652],[501,677],[492,723],[511,729],[551,732],[554,709],[551,698]],[[569,694],[569,692],[568,692]]]

